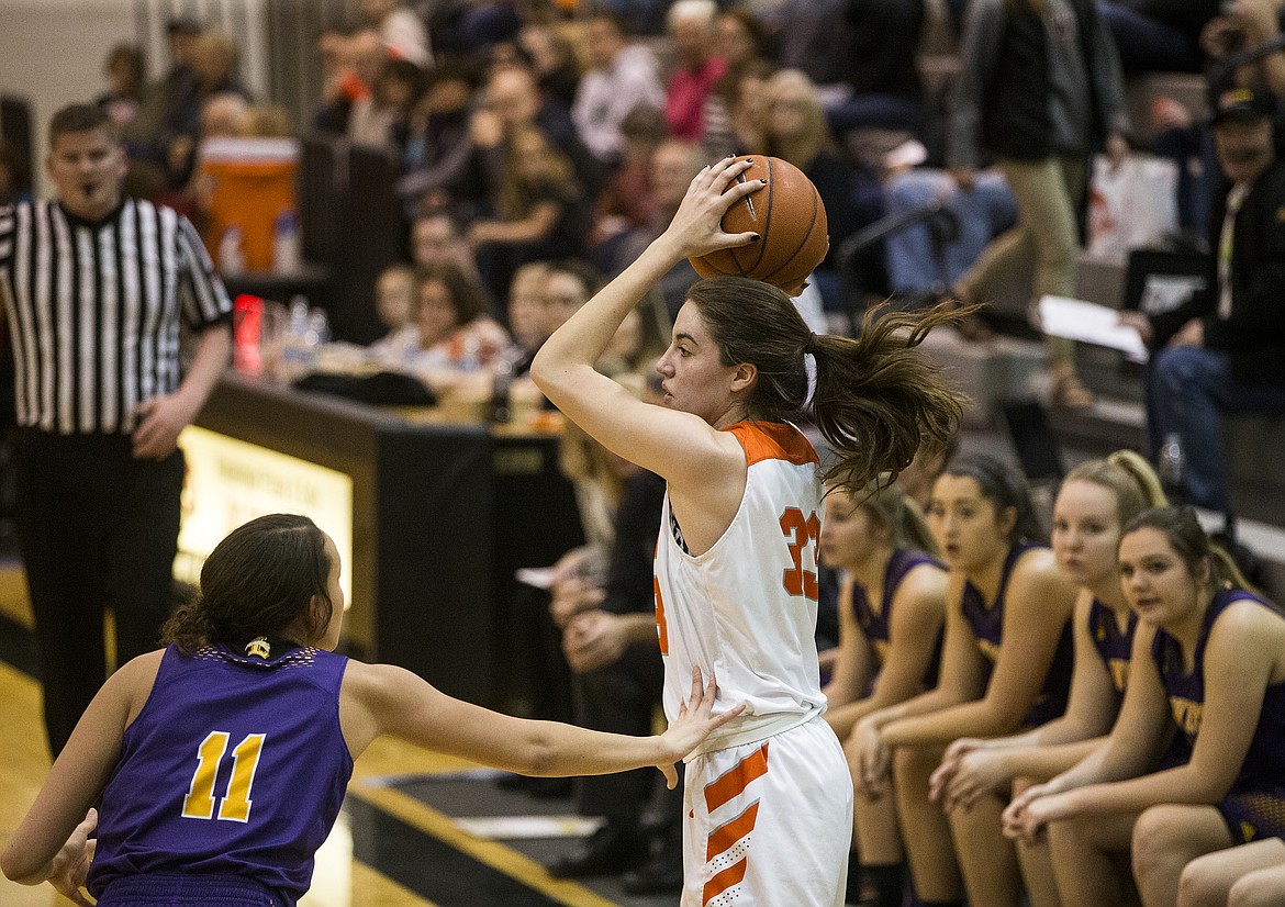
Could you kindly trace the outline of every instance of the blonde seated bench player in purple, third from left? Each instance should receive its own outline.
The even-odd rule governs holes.
[[[1047,781],[1104,743],[1124,695],[1137,623],[1121,588],[1121,533],[1133,516],[1164,504],[1154,470],[1133,451],[1083,462],[1063,480],[1054,502],[1052,551],[1079,590],[1067,712],[1025,734],[951,744],[932,779],[933,799],[947,812]],[[1047,845],[1019,843],[1018,858],[1032,907],[1059,904]]]

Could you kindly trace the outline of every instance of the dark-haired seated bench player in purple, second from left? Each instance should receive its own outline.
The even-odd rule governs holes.
[[[929,799],[943,750],[1061,714],[1070,683],[1076,590],[1041,536],[1025,482],[991,457],[938,477],[928,522],[950,568],[937,689],[866,716],[848,743],[862,786],[892,785],[915,893],[925,904],[1016,903],[1022,883],[998,803],[944,815]]]

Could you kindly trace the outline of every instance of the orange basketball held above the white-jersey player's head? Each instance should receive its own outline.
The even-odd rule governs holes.
[[[726,233],[756,231],[762,240],[690,258],[702,277],[735,274],[793,290],[830,248],[825,206],[812,181],[794,164],[763,154],[744,155],[753,164],[739,182],[767,180],[722,218]]]

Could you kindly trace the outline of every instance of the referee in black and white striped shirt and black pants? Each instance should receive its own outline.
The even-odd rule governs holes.
[[[57,755],[116,662],[168,615],[182,452],[227,364],[231,303],[193,226],[123,198],[125,149],[98,107],[49,123],[55,202],[0,208],[15,364],[15,523]],[[198,342],[180,374],[181,322]]]

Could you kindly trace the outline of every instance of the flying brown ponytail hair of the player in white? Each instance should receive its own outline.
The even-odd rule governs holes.
[[[837,457],[826,479],[858,497],[870,483],[894,482],[921,443],[941,450],[959,430],[968,397],[917,347],[929,330],[971,310],[953,302],[926,312],[878,307],[852,339],[812,334],[790,298],[758,280],[707,277],[693,284],[687,299],[722,364],[758,370],[745,405],[750,419],[807,415],[804,356],[816,358],[811,416]]]

